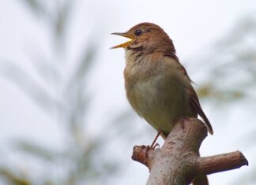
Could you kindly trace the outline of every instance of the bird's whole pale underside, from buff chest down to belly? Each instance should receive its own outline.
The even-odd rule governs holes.
[[[169,133],[180,117],[193,114],[186,92],[190,82],[177,70],[177,62],[143,62],[126,63],[126,96],[133,109],[153,128]]]

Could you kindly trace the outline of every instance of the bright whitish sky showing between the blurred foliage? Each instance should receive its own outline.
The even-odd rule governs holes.
[[[94,40],[99,44],[100,54],[88,82],[89,89],[95,93],[88,122],[100,122],[108,113],[116,112],[115,109],[130,109],[122,77],[125,66],[124,51],[109,50],[124,39],[110,35],[111,32],[126,31],[145,21],[160,25],[173,39],[180,61],[190,74],[194,64],[183,61],[191,61],[190,57],[207,54],[211,46],[227,35],[235,23],[255,12],[255,7],[256,2],[252,0],[77,1],[71,24],[68,25],[73,29],[67,31],[67,42],[70,46],[69,54],[65,57],[69,61],[69,67],[63,68],[63,75],[73,68],[72,61],[77,58],[76,51],[81,51],[80,48],[83,47],[84,40],[81,38]],[[43,50],[47,54],[45,57],[51,56],[53,51],[48,46],[51,34],[43,29],[43,21],[38,21],[31,15],[28,9],[17,1],[0,0],[0,67],[2,61],[13,62],[21,65],[33,78],[39,80],[32,69],[32,58],[29,56],[36,50]],[[203,73],[203,76],[207,74]],[[196,83],[200,84],[202,81],[201,77],[195,74],[190,77],[195,79]],[[44,113],[32,99],[2,75],[0,87],[0,150],[3,156],[12,159],[13,156],[7,148],[13,139],[32,139],[47,146],[62,148],[65,143],[62,141],[62,131],[59,130],[57,120]],[[243,103],[228,106],[224,113],[214,110],[216,107],[210,105],[210,102],[202,102],[202,106],[213,123],[215,134],[205,139],[201,154],[208,156],[241,150],[251,161],[254,151],[238,141],[254,127],[253,124],[241,126],[246,120],[253,120],[253,111],[241,113],[241,109],[247,109],[247,105]],[[146,125],[144,120],[136,121],[137,124]],[[92,135],[99,130],[100,128],[95,126],[90,127]],[[126,151],[129,152],[122,153],[122,161],[127,168],[120,172],[120,176],[112,179],[114,184],[145,184],[149,176],[148,169],[130,160],[132,147],[141,142],[150,142],[150,136],[147,136],[147,139],[142,136],[136,143],[127,146],[129,149]],[[253,161],[251,166],[256,165],[255,162]],[[234,176],[243,176],[250,171],[251,166],[213,174],[209,176],[209,181],[218,185],[232,184]]]

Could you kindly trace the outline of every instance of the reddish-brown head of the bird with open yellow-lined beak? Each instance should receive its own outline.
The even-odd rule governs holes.
[[[115,32],[112,35],[120,35],[130,40],[126,43],[111,47],[111,49],[122,47],[125,50],[156,50],[161,47],[174,49],[171,39],[160,26],[152,23],[141,23],[135,25],[126,32]],[[171,48],[170,48],[171,47]]]

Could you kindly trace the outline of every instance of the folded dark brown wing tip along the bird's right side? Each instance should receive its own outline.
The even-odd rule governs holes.
[[[190,88],[190,106],[194,110],[194,112],[198,113],[200,117],[204,120],[205,125],[211,135],[213,135],[213,128],[210,124],[208,118],[205,116],[204,111],[201,109],[201,105],[198,100],[198,95],[194,91],[194,88]]]

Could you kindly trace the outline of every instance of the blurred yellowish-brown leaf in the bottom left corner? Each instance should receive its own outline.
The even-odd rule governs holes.
[[[29,179],[26,176],[17,176],[14,172],[7,168],[0,168],[0,176],[6,178],[9,184],[13,185],[31,185]]]

